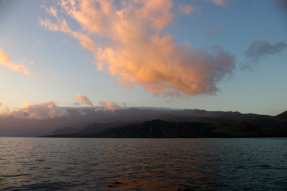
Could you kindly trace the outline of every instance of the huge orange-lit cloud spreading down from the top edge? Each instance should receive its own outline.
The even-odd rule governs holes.
[[[121,1],[117,5],[104,0],[62,0],[58,6],[58,13],[48,11],[56,23],[39,19],[39,24],[79,40],[94,53],[98,70],[115,76],[120,85],[133,88],[139,84],[159,96],[214,94],[216,84],[235,69],[234,56],[220,46],[180,46],[173,36],[162,34],[175,17],[171,0]],[[179,7],[183,13],[192,11],[184,6]],[[59,16],[63,12],[80,28],[72,30],[66,21],[69,18]]]

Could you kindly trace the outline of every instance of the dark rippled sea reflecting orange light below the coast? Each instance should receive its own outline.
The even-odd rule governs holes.
[[[0,190],[287,190],[287,138],[0,137]]]

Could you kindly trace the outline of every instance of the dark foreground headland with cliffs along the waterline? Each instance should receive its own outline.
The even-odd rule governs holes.
[[[112,126],[113,124],[113,126]],[[227,137],[286,137],[287,121],[274,119],[226,120],[206,123],[167,122],[159,119],[141,124],[102,124],[105,128],[88,125],[73,134],[50,137],[87,138],[227,138]],[[86,127],[86,126],[84,126]]]

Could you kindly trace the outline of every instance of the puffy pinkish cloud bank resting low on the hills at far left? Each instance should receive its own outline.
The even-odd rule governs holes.
[[[8,107],[5,107],[0,113],[0,117],[9,115],[22,119],[51,119],[68,117],[69,113],[65,108],[58,107],[53,100],[49,100],[42,101],[41,104],[33,103],[31,105],[25,102],[22,108],[15,108],[14,110],[9,110]]]

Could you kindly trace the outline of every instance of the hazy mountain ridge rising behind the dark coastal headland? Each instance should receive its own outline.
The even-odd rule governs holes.
[[[274,121],[281,120],[282,124],[285,121],[285,119],[280,118],[283,114],[276,115],[276,117],[253,113],[242,114],[237,111],[225,112],[199,109],[155,111],[151,109],[143,110],[134,107],[115,111],[95,111],[93,107],[87,107],[85,110],[82,110],[86,114],[84,116],[80,115],[79,108],[67,109],[67,111],[69,112],[70,117],[55,119],[17,119],[14,117],[0,117],[0,136],[45,136],[71,134],[76,132],[81,132],[81,136],[85,136],[85,133],[88,134],[88,132],[91,134],[113,128],[131,127],[143,124],[145,121],[156,119],[170,123],[197,123],[197,126],[205,123],[216,128],[219,128],[219,125],[215,124],[220,124],[222,121],[228,121],[223,126],[230,127],[232,126],[230,125],[232,124],[232,120],[237,122],[246,121],[249,124],[259,127],[262,126],[258,122],[259,119],[265,120],[266,124],[277,123],[277,125],[278,122]],[[191,124],[189,124],[189,126],[190,125]],[[233,125],[235,126],[235,124]],[[176,126],[176,124],[173,126]],[[240,124],[237,126],[240,126]],[[247,126],[247,124],[241,123],[241,126]]]

